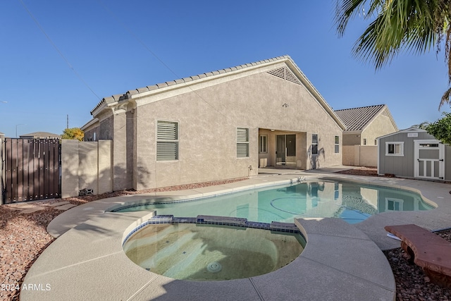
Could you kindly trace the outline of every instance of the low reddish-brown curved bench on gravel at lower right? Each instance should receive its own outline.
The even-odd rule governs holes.
[[[451,242],[419,226],[385,226],[401,240],[409,262],[421,266],[435,284],[451,288]]]

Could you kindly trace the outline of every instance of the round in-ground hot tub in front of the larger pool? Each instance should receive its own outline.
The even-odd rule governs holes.
[[[130,235],[123,249],[132,262],[148,271],[195,281],[267,274],[304,250],[300,233],[227,224],[149,223]]]

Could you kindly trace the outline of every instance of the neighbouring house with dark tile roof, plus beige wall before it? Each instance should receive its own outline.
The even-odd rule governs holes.
[[[376,166],[377,137],[397,132],[395,120],[385,104],[335,110],[345,123],[343,165]]]

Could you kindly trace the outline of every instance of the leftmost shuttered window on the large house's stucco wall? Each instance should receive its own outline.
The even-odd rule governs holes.
[[[178,160],[178,123],[156,121],[156,161]]]

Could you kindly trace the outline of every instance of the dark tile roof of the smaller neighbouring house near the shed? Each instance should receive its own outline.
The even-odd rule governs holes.
[[[360,108],[335,110],[335,114],[340,117],[346,125],[345,131],[362,131],[364,130],[379,114],[383,111],[387,113],[392,121],[395,129],[397,126],[393,117],[385,104],[378,104],[376,106],[362,106]]]

